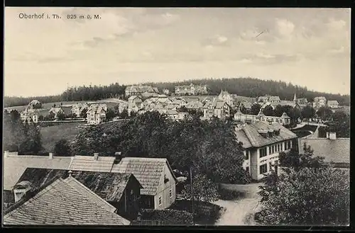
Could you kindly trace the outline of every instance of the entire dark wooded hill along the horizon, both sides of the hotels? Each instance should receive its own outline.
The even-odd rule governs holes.
[[[175,92],[175,86],[180,85],[207,85],[211,95],[217,95],[221,89],[238,96],[258,97],[280,96],[281,100],[293,100],[293,95],[297,93],[298,98],[307,98],[312,101],[316,96],[324,96],[327,100],[336,100],[340,105],[350,106],[350,96],[318,91],[309,91],[307,87],[297,86],[284,81],[261,80],[254,78],[232,78],[232,79],[191,79],[187,81],[174,82],[149,82],[145,85],[158,87],[160,91],[168,89]],[[4,107],[24,106],[33,99],[41,103],[52,103],[58,101],[97,101],[103,98],[124,97],[125,85],[118,83],[108,86],[77,86],[70,87],[58,96],[33,96],[33,97],[4,97]]]

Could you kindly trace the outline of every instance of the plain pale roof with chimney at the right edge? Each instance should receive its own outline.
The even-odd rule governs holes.
[[[334,168],[350,169],[350,138],[337,137],[335,132],[327,132],[327,137],[302,137],[298,139],[298,151],[302,153],[304,144],[311,147],[315,157],[324,157]]]

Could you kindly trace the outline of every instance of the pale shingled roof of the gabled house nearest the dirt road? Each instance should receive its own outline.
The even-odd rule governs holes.
[[[143,186],[141,195],[155,195],[158,191],[165,165],[168,165],[171,174],[175,178],[168,160],[164,158],[125,157],[121,159],[119,164],[114,164],[111,172],[133,174]]]

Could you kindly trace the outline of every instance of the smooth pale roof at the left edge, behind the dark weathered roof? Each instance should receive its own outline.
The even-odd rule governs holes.
[[[4,152],[4,205],[12,205],[13,186],[16,185],[18,179],[28,168],[41,169],[68,169],[72,157],[53,157],[49,153],[48,157],[36,155],[18,155],[18,152]]]

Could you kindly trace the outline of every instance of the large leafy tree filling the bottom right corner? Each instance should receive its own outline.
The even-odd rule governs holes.
[[[349,172],[302,168],[261,186],[263,225],[349,225]]]

